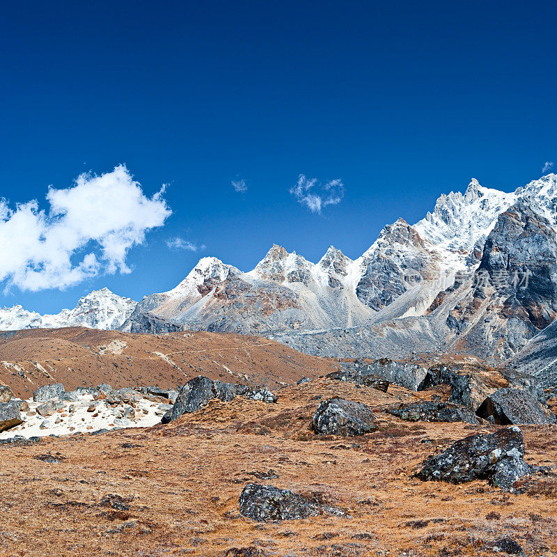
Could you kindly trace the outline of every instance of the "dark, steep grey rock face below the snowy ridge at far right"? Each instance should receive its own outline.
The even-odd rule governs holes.
[[[521,200],[499,215],[466,296],[447,326],[460,347],[507,358],[557,312],[557,243],[539,207]]]

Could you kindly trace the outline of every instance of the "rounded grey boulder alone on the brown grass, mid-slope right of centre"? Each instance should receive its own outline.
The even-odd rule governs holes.
[[[377,424],[370,407],[361,402],[331,398],[317,407],[313,430],[320,434],[363,435],[377,430]]]

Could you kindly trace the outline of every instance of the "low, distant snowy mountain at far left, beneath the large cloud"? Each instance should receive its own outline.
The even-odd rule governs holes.
[[[19,305],[0,309],[0,330],[59,327],[118,329],[130,317],[136,304],[130,298],[123,298],[108,288],[102,288],[80,298],[73,309],[63,309],[54,315],[40,315],[36,311],[26,311]]]

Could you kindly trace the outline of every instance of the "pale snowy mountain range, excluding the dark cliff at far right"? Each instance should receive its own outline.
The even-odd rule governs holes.
[[[534,214],[545,217],[544,222],[549,223],[546,228],[557,228],[557,175],[546,175],[512,193],[483,187],[477,180],[471,180],[464,194],[441,195],[433,211],[414,226],[403,219],[385,226],[377,240],[356,260],[330,246],[313,263],[275,244],[249,272],[207,257],[175,288],[146,296],[139,304],[120,297],[111,299],[114,295],[103,290],[81,299],[74,310],[63,310],[57,315],[41,316],[21,306],[0,310],[0,324],[5,329],[72,324],[116,328],[125,320],[121,327],[125,331],[164,332],[187,327],[276,334],[292,345],[297,343],[295,336],[303,334],[306,340],[301,345],[311,353],[317,353],[311,348],[314,334],[328,331],[331,343],[322,342],[319,350],[334,345],[339,354],[342,346],[362,354],[366,350],[381,350],[385,343],[375,338],[372,334],[375,331],[380,338],[389,338],[393,349],[397,344],[399,347],[414,344],[418,349],[422,343],[429,350],[448,342],[451,335],[464,336],[468,323],[474,322],[468,321],[466,312],[476,311],[473,280],[480,262],[486,260],[487,239],[497,240],[499,249],[503,249],[503,240],[493,234],[497,222],[500,221],[499,228],[504,228],[505,223],[522,222],[524,217],[524,234],[533,235],[535,241],[526,242],[518,230],[516,242],[526,242],[524,245],[533,257],[526,258],[518,252],[513,257],[517,268],[523,262],[531,265],[536,261],[536,246],[544,242],[543,227],[538,230],[528,224],[534,223],[535,217],[524,210],[517,213],[522,215],[520,219],[512,217],[511,207],[521,201],[527,202]],[[504,237],[505,231],[497,234]],[[510,247],[505,247],[509,253]],[[522,291],[517,294],[522,295]],[[466,307],[462,305],[470,300]],[[460,301],[464,317],[458,329],[450,329],[449,317],[459,317]],[[499,297],[494,297],[489,315],[503,311],[502,303]],[[488,316],[485,322],[491,319]],[[483,335],[492,325],[486,327],[481,324],[476,329]],[[498,329],[501,338],[506,334],[505,327],[511,325],[502,322]]]

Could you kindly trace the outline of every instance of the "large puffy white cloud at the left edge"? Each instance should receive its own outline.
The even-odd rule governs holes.
[[[21,290],[66,288],[100,273],[129,273],[126,256],[171,210],[164,187],[143,194],[125,166],[81,174],[65,189],[49,187],[49,211],[36,200],[15,209],[0,200],[0,281]]]

